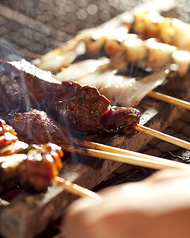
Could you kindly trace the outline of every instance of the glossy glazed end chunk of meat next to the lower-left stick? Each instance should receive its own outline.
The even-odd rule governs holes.
[[[61,170],[62,156],[61,148],[52,143],[30,150],[27,158],[17,167],[20,183],[33,186],[36,190],[45,190]]]

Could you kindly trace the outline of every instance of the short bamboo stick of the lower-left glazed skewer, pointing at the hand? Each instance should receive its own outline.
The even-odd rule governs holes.
[[[98,194],[92,192],[91,190],[88,190],[87,188],[83,188],[77,184],[74,184],[74,183],[72,183],[68,180],[65,180],[63,178],[60,178],[58,176],[56,176],[53,179],[53,182],[56,183],[58,186],[62,186],[66,191],[68,191],[76,196],[91,197],[98,201],[102,200],[102,198]]]

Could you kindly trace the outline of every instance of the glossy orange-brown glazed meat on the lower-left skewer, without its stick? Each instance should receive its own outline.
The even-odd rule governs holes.
[[[18,177],[25,188],[43,191],[62,169],[63,152],[55,144],[33,145],[27,154],[0,156],[0,180]]]

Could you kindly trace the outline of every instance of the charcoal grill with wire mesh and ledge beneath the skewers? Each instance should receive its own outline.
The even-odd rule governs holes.
[[[122,0],[109,0],[105,1],[104,5],[102,1],[93,2],[90,0],[81,0],[76,3],[75,1],[66,0],[34,0],[24,1],[24,4],[22,1],[17,1],[15,5],[15,1],[4,0],[0,4],[0,35],[2,45],[7,46],[7,42],[9,42],[12,51],[9,51],[9,54],[1,52],[2,58],[14,60],[19,55],[19,57],[31,60],[30,53],[44,54],[70,40],[78,31],[84,28],[94,27],[103,24],[103,22],[106,22],[104,24],[120,25],[126,19],[131,19],[130,12],[122,12],[132,9],[143,1],[131,2],[129,4]],[[181,4],[176,7],[172,0],[167,3],[164,2],[164,4],[161,4],[160,0],[151,1],[145,3],[143,7],[151,10],[161,10],[164,14],[178,16],[182,20],[190,21],[187,5],[186,11],[183,8],[183,3],[188,3],[186,1],[179,2]],[[59,7],[58,4],[60,4]],[[86,18],[84,19],[85,12]],[[113,18],[118,14],[118,17]],[[87,18],[88,20],[86,20]],[[6,42],[3,40],[6,40]],[[189,75],[187,75],[188,77]],[[190,90],[185,93],[181,90],[181,93],[175,96],[181,97],[182,94],[183,99],[190,100]],[[146,126],[158,130],[167,128],[166,133],[189,140],[189,112],[148,98],[143,100],[140,108],[144,111],[142,121]],[[179,118],[180,115],[183,116]],[[130,138],[126,138],[124,135],[107,135],[106,137],[97,138],[97,141],[189,163],[188,151],[157,139],[152,140],[151,136],[142,133],[137,133],[137,135]],[[121,171],[120,166],[121,164],[118,162],[73,155],[64,161],[64,169],[60,176],[98,191],[105,186],[141,180],[153,172],[150,169],[130,166],[121,173],[119,172]],[[120,170],[117,170],[118,168]],[[106,179],[108,176],[109,179]],[[3,205],[0,206],[0,234],[8,238],[35,237],[45,230],[49,223],[63,215],[65,208],[76,199],[75,196],[63,191],[62,188],[56,185],[49,188],[47,192],[40,194],[28,194],[21,191],[18,196],[10,201],[8,206],[5,202],[5,199],[8,199],[6,194],[2,195],[0,193],[0,195],[3,198]]]

